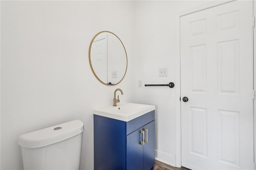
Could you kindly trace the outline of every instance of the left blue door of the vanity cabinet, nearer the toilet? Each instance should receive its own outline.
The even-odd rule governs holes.
[[[143,170],[143,146],[142,141],[143,128],[132,132],[126,136],[126,170]]]

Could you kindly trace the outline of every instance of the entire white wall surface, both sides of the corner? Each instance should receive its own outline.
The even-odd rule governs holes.
[[[81,169],[93,168],[93,115],[121,101],[156,105],[156,158],[175,165],[174,16],[209,1],[1,1],[1,170],[22,169],[18,136],[73,119],[84,122]],[[100,31],[124,43],[128,69],[113,87],[93,75],[88,48]],[[158,77],[158,68],[168,77]]]

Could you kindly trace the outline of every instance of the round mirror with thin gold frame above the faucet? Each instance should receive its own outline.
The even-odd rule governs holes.
[[[89,61],[95,77],[105,85],[120,83],[126,74],[124,44],[110,31],[102,31],[94,36],[89,47]]]

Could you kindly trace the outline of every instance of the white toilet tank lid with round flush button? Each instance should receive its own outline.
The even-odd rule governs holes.
[[[84,131],[84,123],[74,120],[19,136],[18,144],[26,148],[40,148],[71,138]]]

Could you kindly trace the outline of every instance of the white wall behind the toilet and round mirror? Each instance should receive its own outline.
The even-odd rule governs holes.
[[[93,169],[93,114],[134,98],[133,2],[1,1],[1,170],[21,170],[18,136],[66,121],[84,122],[81,169]],[[124,43],[128,72],[113,87],[93,75],[88,49],[109,30]]]

